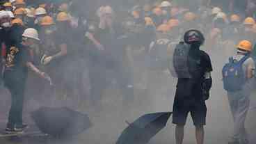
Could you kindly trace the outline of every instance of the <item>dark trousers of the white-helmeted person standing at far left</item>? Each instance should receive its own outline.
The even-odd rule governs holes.
[[[8,116],[8,126],[22,125],[22,111],[24,103],[24,89],[26,79],[15,77],[14,74],[4,74],[5,86],[11,94],[11,106]]]

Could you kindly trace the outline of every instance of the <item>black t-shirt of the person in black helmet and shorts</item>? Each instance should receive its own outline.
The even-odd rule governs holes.
[[[205,72],[211,72],[211,59],[205,51],[199,51],[200,55],[200,78],[196,79],[178,79],[177,94],[178,99],[201,99],[202,101],[202,86]]]

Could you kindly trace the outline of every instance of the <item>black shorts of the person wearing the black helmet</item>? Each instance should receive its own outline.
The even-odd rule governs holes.
[[[173,104],[173,124],[185,125],[189,112],[195,126],[206,124],[207,107],[205,102],[195,102],[195,100],[189,102],[188,99],[177,98]]]

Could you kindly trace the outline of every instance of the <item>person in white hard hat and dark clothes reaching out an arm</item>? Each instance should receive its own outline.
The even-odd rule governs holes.
[[[39,40],[38,32],[35,29],[26,29],[22,36],[23,42],[6,47],[3,79],[6,88],[10,90],[12,96],[8,124],[6,127],[7,133],[21,132],[26,128],[26,125],[22,122],[22,110],[28,69],[32,70],[40,77],[51,81],[47,74],[38,70],[38,68],[31,63],[29,45],[33,45],[35,40]]]

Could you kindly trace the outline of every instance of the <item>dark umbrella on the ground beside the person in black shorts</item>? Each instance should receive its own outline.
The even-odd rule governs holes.
[[[145,144],[155,136],[170,118],[171,112],[150,113],[129,124],[118,138],[116,144]]]

